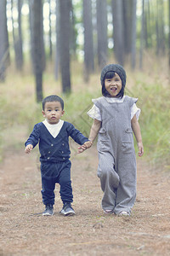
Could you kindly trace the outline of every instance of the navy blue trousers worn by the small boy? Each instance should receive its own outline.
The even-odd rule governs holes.
[[[71,161],[59,163],[41,163],[42,202],[54,205],[55,183],[59,183],[59,194],[63,203],[72,202]]]

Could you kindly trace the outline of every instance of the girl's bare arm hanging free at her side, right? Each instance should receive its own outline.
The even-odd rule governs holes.
[[[134,136],[136,138],[136,141],[138,143],[138,148],[139,148],[139,156],[142,156],[144,154],[144,146],[142,143],[142,136],[140,132],[140,126],[138,119],[136,118],[136,115],[133,116],[133,119],[131,120],[131,125],[133,129]]]

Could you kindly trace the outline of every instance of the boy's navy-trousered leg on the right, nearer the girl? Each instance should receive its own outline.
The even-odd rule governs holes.
[[[60,196],[63,203],[72,202],[72,187],[71,187],[71,161],[68,160],[62,163],[59,172],[59,185],[60,185]]]

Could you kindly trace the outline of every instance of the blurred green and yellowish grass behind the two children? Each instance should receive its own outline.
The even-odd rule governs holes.
[[[80,67],[79,67],[80,68]],[[170,170],[170,88],[164,79],[147,73],[127,71],[127,94],[139,97],[138,107],[142,112],[139,124],[144,143],[144,155],[150,162],[161,164]],[[128,86],[130,83],[130,87]],[[35,85],[31,75],[10,72],[4,84],[0,84],[0,155],[5,148],[22,148],[33,125],[42,121],[42,105],[35,102]],[[130,89],[129,89],[130,88]],[[65,101],[63,119],[71,122],[88,137],[93,120],[87,111],[93,106],[92,98],[100,96],[99,74],[94,74],[84,84],[82,72],[72,76],[72,93],[62,95],[60,82],[54,74],[44,74],[44,96],[58,94]]]

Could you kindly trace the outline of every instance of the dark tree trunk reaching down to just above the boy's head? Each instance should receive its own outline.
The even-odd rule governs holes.
[[[42,73],[44,69],[44,45],[42,26],[42,0],[30,0],[31,55],[36,78],[37,102],[42,101]]]

